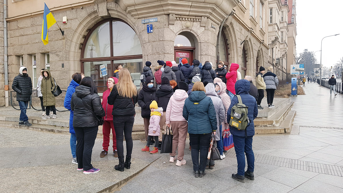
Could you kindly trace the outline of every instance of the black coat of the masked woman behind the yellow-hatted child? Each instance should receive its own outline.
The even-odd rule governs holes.
[[[155,100],[156,87],[149,88],[146,84],[143,84],[143,88],[138,94],[138,105],[141,107],[141,115],[143,118],[150,117],[150,104]]]

